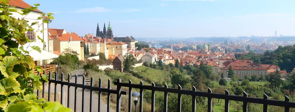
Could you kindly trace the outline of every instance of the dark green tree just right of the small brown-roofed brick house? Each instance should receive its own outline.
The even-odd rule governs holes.
[[[124,65],[124,71],[129,72],[131,69],[133,69],[133,66],[136,64],[136,58],[132,54],[125,54],[124,56],[125,60],[123,62]]]

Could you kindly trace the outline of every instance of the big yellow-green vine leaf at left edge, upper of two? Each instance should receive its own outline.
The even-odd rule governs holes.
[[[3,61],[0,62],[0,70],[1,70],[2,75],[4,75],[4,77],[9,77],[10,75],[12,75],[13,67],[19,63],[20,62],[18,61],[17,57],[5,56],[3,58]]]

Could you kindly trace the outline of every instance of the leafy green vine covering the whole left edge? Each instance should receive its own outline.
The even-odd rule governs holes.
[[[35,30],[37,31],[35,33],[42,33],[40,29],[32,27],[48,23],[49,20],[43,20],[43,16],[54,19],[51,16],[52,13],[43,13],[36,18],[36,22],[29,22],[25,17],[31,11],[37,10],[39,4],[19,11],[19,9],[8,5],[10,0],[0,0],[0,2],[0,112],[50,112],[52,108],[60,112],[70,112],[70,109],[63,107],[58,102],[47,102],[45,99],[37,100],[34,90],[42,90],[41,80],[48,82],[48,79],[46,75],[34,73],[35,69],[42,72],[42,68],[35,65],[33,58],[28,55],[28,47],[24,47],[25,44],[35,42],[26,36],[26,32]],[[12,13],[20,14],[22,18],[16,19]],[[39,36],[36,38],[43,42]],[[29,47],[41,52],[39,46],[30,45]]]

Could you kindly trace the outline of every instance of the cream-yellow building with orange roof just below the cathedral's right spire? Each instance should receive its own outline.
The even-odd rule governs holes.
[[[127,44],[125,43],[118,43],[118,42],[111,42],[106,43],[107,48],[112,48],[109,52],[115,52],[112,55],[122,55],[124,56],[127,53]]]

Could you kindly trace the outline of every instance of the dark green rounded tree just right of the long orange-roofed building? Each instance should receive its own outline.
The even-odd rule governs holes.
[[[281,86],[282,79],[278,70],[275,73],[269,74],[269,77],[270,88],[279,88]]]

